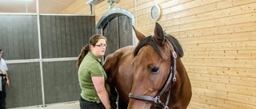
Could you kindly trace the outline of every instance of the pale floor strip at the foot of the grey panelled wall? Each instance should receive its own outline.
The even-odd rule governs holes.
[[[48,104],[46,107],[42,106],[33,106],[33,107],[16,107],[16,108],[8,108],[8,109],[80,109],[79,102],[68,102],[68,103],[54,103]]]

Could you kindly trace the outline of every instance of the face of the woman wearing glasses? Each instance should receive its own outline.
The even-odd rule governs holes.
[[[95,56],[103,56],[106,52],[106,40],[99,39],[95,46],[91,46],[91,52],[94,53]]]

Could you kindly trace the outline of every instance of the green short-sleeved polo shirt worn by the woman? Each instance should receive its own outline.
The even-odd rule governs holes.
[[[93,81],[91,80],[92,76],[104,76],[105,79],[105,88],[110,95],[110,86],[106,83],[106,72],[102,68],[102,65],[98,62],[100,59],[94,56],[93,53],[88,52],[83,58],[80,67],[78,68],[78,79],[80,88],[82,89],[81,96],[82,99],[86,99],[90,102],[100,103],[101,100],[98,97],[98,94],[94,88]]]

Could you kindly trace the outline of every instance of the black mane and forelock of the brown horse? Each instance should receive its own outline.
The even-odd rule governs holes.
[[[180,45],[180,42],[170,34],[165,33],[165,37],[166,40],[170,41],[170,43],[174,46],[174,50],[178,54],[178,56],[182,57],[183,49],[182,45]],[[160,45],[158,45],[158,43],[155,41],[154,36],[149,36],[144,38],[142,41],[139,41],[138,45],[134,50],[134,56],[137,56],[139,49],[141,49],[145,45],[151,45],[154,48],[154,51],[156,51],[156,53],[158,53],[158,55],[162,57],[162,54],[160,53]]]

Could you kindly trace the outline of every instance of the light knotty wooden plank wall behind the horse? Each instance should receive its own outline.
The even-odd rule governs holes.
[[[182,60],[193,87],[188,108],[256,108],[256,1],[120,0],[114,8],[130,11],[136,28],[152,34],[154,4],[162,10],[158,22],[185,51]],[[76,14],[69,9],[74,6],[65,13]],[[94,6],[96,24],[106,11],[106,1]]]

